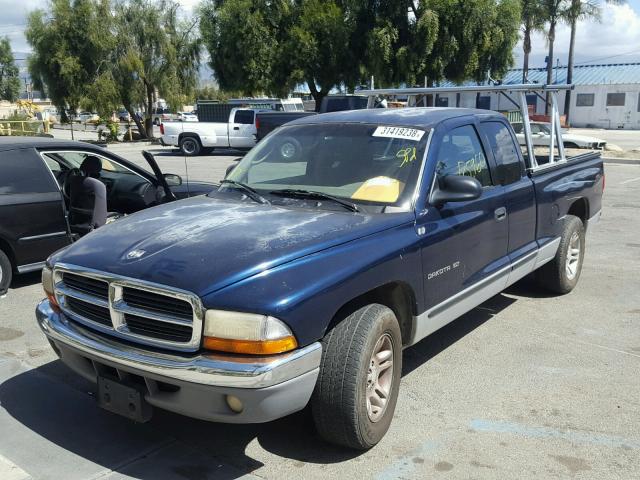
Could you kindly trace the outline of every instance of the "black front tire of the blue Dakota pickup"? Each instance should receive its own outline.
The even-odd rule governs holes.
[[[370,369],[370,362],[380,341],[391,345],[392,348],[384,351],[390,351],[393,364],[386,370],[381,369],[379,377],[388,388],[386,407],[370,414],[368,395],[380,391],[369,387],[370,380],[378,378],[377,369]],[[322,346],[320,374],[311,397],[311,411],[318,433],[337,445],[369,449],[389,429],[398,400],[402,372],[402,336],[398,320],[383,305],[367,305],[330,330],[322,340]],[[383,375],[387,377],[383,378]],[[378,417],[372,420],[372,414]]]

